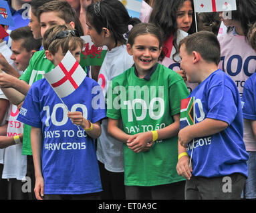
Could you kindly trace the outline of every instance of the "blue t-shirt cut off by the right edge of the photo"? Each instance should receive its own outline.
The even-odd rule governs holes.
[[[256,73],[245,82],[242,96],[243,118],[256,120]]]

